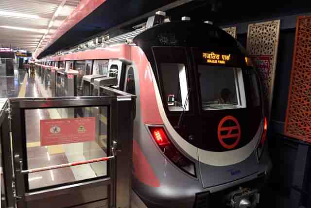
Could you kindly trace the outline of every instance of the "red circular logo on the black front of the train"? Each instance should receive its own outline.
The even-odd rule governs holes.
[[[241,126],[233,116],[225,116],[218,124],[218,140],[225,149],[235,148],[241,139]]]

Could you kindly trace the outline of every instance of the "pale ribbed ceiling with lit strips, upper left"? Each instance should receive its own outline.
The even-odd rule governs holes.
[[[80,0],[0,0],[0,47],[34,52],[41,39],[39,48],[43,47],[79,2]],[[53,18],[56,11],[57,17]]]

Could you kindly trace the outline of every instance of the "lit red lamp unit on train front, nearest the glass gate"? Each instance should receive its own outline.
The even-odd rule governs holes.
[[[162,153],[175,164],[178,168],[196,177],[195,164],[186,156],[184,156],[168,138],[163,127],[149,127],[151,135],[155,143]]]

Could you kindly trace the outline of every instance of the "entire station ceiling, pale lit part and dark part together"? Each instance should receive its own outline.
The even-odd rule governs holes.
[[[166,11],[172,20],[188,16],[192,20],[211,20],[215,25],[225,25],[307,13],[311,8],[311,1],[306,0],[284,0],[281,3],[271,0],[102,0],[103,3],[90,15],[60,38],[52,39],[52,35],[80,1],[85,3],[89,0],[0,0],[0,44],[20,47],[30,52],[37,49],[36,55],[44,57],[86,41],[92,36],[129,31],[132,26],[146,21],[148,15],[153,15],[157,10]],[[64,6],[44,36],[61,5]],[[2,15],[2,11],[35,15],[39,18],[6,17]],[[1,26],[34,30],[22,31]]]

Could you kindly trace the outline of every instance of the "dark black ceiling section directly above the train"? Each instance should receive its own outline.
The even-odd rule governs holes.
[[[311,1],[228,1],[228,0],[106,0],[89,16],[40,53],[44,57],[89,37],[127,30],[146,21],[158,9],[172,20],[187,16],[191,20],[211,20],[215,25],[235,24],[310,12]],[[141,18],[139,18],[141,17]],[[133,20],[134,19],[134,20]]]

